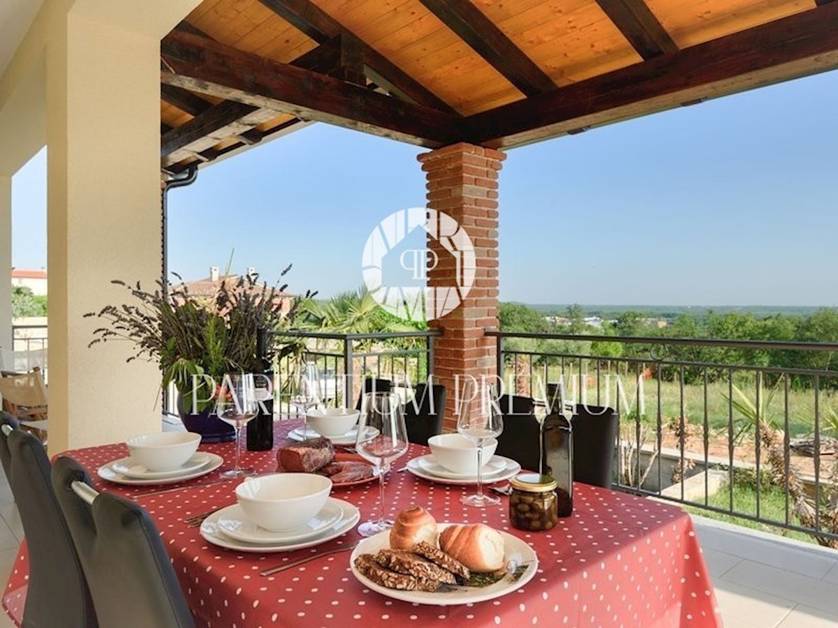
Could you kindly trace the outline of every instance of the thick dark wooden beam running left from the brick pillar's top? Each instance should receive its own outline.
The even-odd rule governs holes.
[[[461,139],[459,116],[208,39],[169,33],[161,51],[168,67],[161,72],[166,85],[421,146],[439,147]]]

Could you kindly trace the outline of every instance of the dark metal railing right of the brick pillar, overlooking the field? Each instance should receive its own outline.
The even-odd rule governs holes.
[[[507,392],[618,410],[615,488],[838,547],[838,344],[487,333]]]

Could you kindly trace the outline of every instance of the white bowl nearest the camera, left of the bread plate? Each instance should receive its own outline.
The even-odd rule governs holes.
[[[272,473],[241,482],[235,498],[257,526],[285,532],[320,512],[331,490],[332,481],[316,473]]]

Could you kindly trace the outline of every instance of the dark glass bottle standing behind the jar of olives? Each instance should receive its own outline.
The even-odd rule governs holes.
[[[564,399],[551,394],[551,385],[547,385],[550,414],[541,423],[541,473],[556,480],[558,516],[569,517],[573,512],[573,431],[562,413]]]

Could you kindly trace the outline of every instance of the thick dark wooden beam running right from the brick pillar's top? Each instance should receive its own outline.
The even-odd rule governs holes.
[[[466,141],[512,147],[838,68],[838,3],[732,33],[466,119]]]

